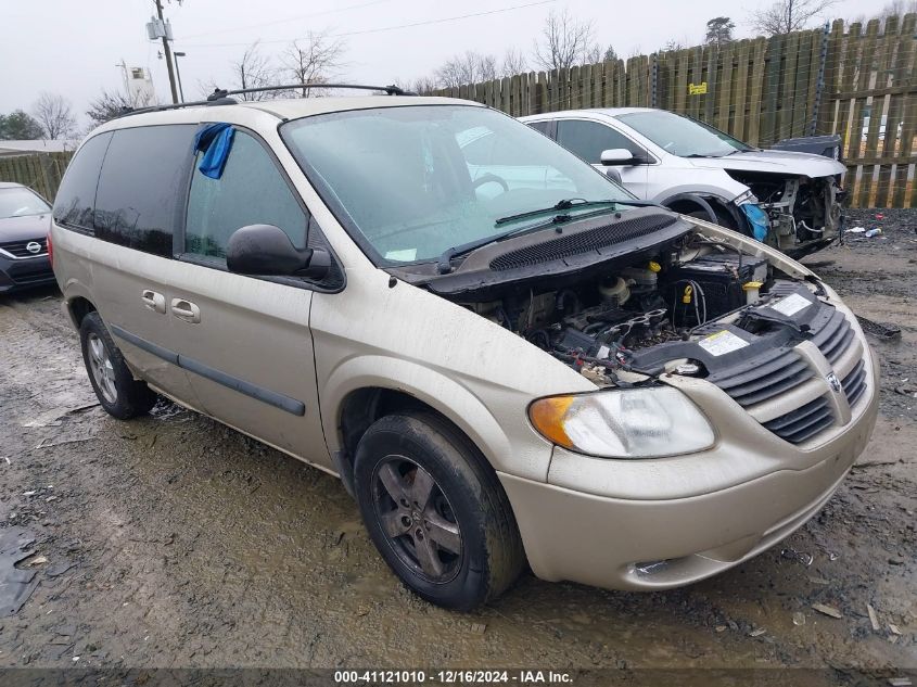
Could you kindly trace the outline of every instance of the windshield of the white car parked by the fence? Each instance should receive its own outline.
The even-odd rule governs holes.
[[[667,153],[679,157],[723,157],[752,150],[712,126],[664,110],[632,112],[617,115],[617,118]]]

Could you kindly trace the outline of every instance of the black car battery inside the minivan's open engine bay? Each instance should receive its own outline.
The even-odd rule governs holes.
[[[711,253],[666,269],[664,278],[662,292],[668,303],[682,305],[685,297],[692,300],[702,295],[706,318],[712,319],[746,304],[744,284],[766,283],[767,260],[733,252]],[[691,285],[690,282],[697,283],[702,294],[693,294],[692,289],[686,296],[685,290]],[[690,309],[693,310],[693,307]]]

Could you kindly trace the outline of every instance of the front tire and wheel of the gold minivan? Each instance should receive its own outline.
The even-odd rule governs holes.
[[[374,422],[354,460],[369,535],[404,584],[428,601],[470,610],[509,587],[525,564],[496,474],[432,414]]]

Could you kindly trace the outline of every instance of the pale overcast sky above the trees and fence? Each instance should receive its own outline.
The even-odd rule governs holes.
[[[181,61],[186,99],[201,84],[229,85],[229,65],[260,40],[271,55],[308,30],[346,41],[345,80],[410,81],[466,50],[501,56],[508,48],[530,53],[551,9],[568,8],[595,23],[596,40],[621,56],[659,49],[667,40],[701,42],[706,20],[727,15],[736,36],[750,35],[748,16],[765,0],[175,0],[165,3],[174,49]],[[527,5],[527,7],[526,7]],[[869,15],[876,0],[841,0],[832,17]],[[500,11],[500,10],[507,11]],[[150,69],[162,102],[168,102],[162,43],[147,39],[153,0],[0,0],[0,113],[31,110],[42,90],[61,93],[80,117],[101,90],[122,88],[124,60]],[[487,13],[487,14],[484,14]],[[464,16],[477,14],[477,16]],[[458,18],[462,17],[464,18]],[[403,26],[419,24],[417,26]],[[403,26],[402,28],[394,28]]]

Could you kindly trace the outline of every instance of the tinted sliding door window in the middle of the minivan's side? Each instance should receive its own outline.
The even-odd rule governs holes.
[[[114,132],[95,195],[98,238],[171,257],[195,128],[169,125]]]

